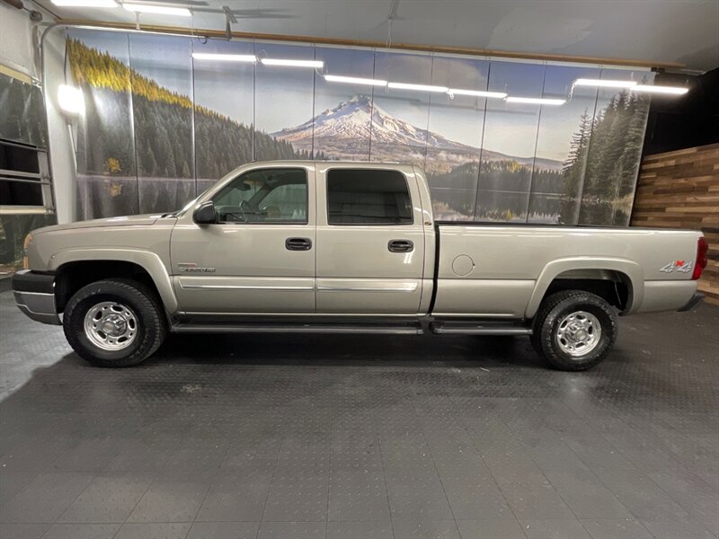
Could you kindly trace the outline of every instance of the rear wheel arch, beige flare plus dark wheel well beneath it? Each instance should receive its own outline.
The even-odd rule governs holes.
[[[621,314],[630,314],[642,304],[644,273],[639,264],[623,259],[578,257],[552,261],[537,278],[525,317],[534,318],[547,295],[571,288],[604,297]]]

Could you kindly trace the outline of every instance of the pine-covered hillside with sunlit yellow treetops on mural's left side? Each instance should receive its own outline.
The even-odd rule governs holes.
[[[67,54],[75,83],[88,102],[82,138],[89,142],[80,172],[102,175],[105,163],[112,158],[127,176],[134,176],[137,170],[148,180],[140,183],[143,192],[123,191],[128,195],[112,199],[112,208],[93,203],[93,208],[102,211],[90,213],[123,215],[137,213],[138,209],[155,212],[181,208],[195,196],[195,176],[217,180],[237,165],[252,161],[253,146],[257,158],[310,158],[309,152],[297,152],[287,141],[256,131],[252,125],[193,105],[188,96],[160,86],[80,40],[67,40]],[[178,181],[173,187],[167,181],[155,182],[157,178]],[[181,181],[187,179],[192,181]],[[92,194],[106,195],[101,190]],[[139,208],[138,198],[142,201]]]

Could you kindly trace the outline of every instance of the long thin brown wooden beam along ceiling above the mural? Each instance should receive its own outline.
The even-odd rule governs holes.
[[[98,22],[98,21],[87,21],[82,19],[58,19],[58,25],[67,26],[94,26],[98,28],[112,28],[116,30],[138,30],[135,23],[132,22]],[[152,24],[142,24],[140,26],[142,31],[156,31],[161,33],[169,34],[182,34],[187,35],[189,33],[196,34],[198,36],[208,38],[224,38],[227,39],[226,31],[221,30],[201,30],[198,28],[190,29],[179,26],[158,26]],[[311,36],[296,36],[286,34],[268,34],[268,33],[253,33],[246,31],[232,31],[230,32],[231,37],[238,40],[268,40],[268,41],[285,41],[293,43],[311,43],[315,45],[338,45],[348,47],[365,47],[371,49],[386,49],[386,43],[383,41],[371,41],[371,40],[341,40],[337,38],[317,38]],[[607,57],[588,57],[588,56],[576,56],[576,55],[565,55],[565,54],[538,54],[528,52],[514,52],[507,50],[493,50],[493,49],[473,49],[469,47],[448,47],[445,45],[422,45],[419,43],[392,43],[390,49],[399,50],[418,50],[424,52],[438,52],[447,54],[462,54],[469,56],[486,56],[486,57],[505,57],[505,58],[519,58],[526,60],[546,60],[555,62],[576,62],[580,64],[599,64],[599,65],[611,65],[611,66],[631,66],[631,67],[644,67],[644,68],[656,68],[656,69],[679,69],[684,67],[684,64],[676,62],[656,62],[651,60],[635,60],[626,58],[607,58]]]

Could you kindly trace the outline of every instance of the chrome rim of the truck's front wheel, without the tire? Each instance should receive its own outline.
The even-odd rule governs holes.
[[[84,315],[84,334],[103,350],[126,349],[138,336],[138,317],[127,305],[103,301]]]

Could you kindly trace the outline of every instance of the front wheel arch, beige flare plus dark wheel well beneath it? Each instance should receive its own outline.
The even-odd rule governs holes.
[[[168,314],[177,311],[172,280],[155,252],[116,249],[57,252],[49,264],[55,273],[58,309],[84,285],[103,278],[134,278],[153,289]]]

